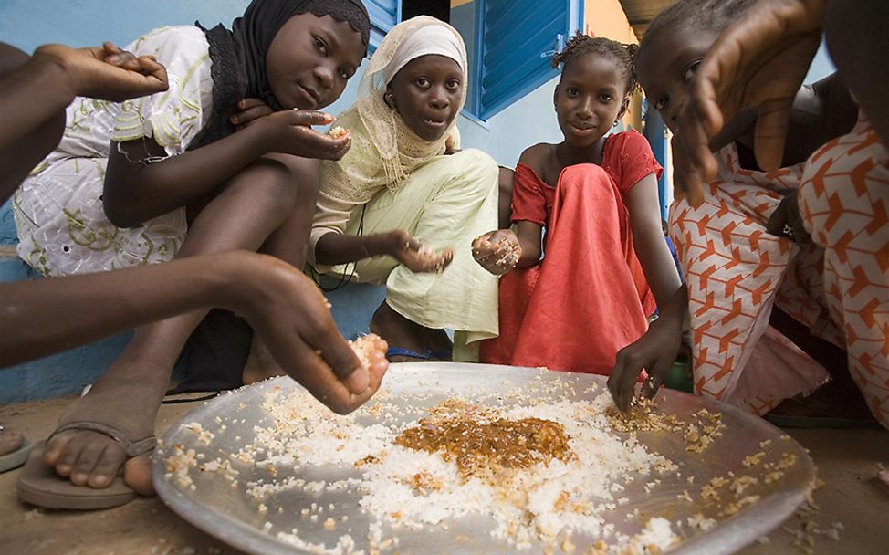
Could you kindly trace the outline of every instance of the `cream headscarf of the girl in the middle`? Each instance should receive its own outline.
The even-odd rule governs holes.
[[[398,70],[421,56],[437,54],[456,61],[463,71],[463,90],[457,112],[466,101],[468,75],[463,37],[444,21],[416,16],[392,27],[373,53],[361,78],[358,101],[337,119],[351,131],[352,145],[339,162],[321,163],[321,194],[364,203],[382,186],[400,188],[420,163],[445,153],[451,137],[459,146],[456,118],[442,137],[425,141],[383,100],[386,86]]]

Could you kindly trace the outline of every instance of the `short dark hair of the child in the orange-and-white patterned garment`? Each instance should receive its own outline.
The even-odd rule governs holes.
[[[757,0],[678,0],[654,17],[645,29],[640,49],[651,42],[652,37],[667,28],[681,26],[691,31],[722,32],[735,23]]]

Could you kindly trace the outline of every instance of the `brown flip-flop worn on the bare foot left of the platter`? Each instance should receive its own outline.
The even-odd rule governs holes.
[[[126,450],[127,457],[140,456],[151,451],[157,440],[148,435],[137,441],[131,441],[119,429],[96,422],[72,422],[60,426],[52,435],[68,430],[89,430],[108,435]],[[52,437],[50,435],[50,438]],[[46,442],[40,442],[28,456],[21,475],[18,476],[18,498],[30,505],[42,508],[64,508],[74,510],[93,510],[99,508],[119,507],[129,503],[138,494],[116,476],[109,487],[93,488],[75,486],[68,478],[58,476],[56,469],[43,462]]]

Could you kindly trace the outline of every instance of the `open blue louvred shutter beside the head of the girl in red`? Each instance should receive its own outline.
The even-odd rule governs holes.
[[[552,55],[580,28],[582,0],[476,0],[472,108],[482,120],[558,75]]]

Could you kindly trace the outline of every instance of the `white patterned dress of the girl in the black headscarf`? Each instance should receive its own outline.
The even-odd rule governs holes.
[[[62,141],[14,197],[18,255],[44,276],[165,262],[183,243],[184,207],[120,228],[105,216],[102,186],[111,141],[153,139],[167,156],[185,152],[213,110],[209,46],[198,27],[172,26],[126,49],[155,56],[167,69],[170,89],[120,103],[75,99]]]

